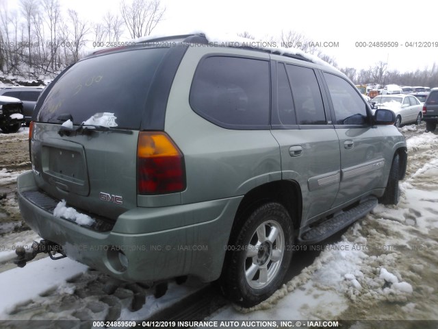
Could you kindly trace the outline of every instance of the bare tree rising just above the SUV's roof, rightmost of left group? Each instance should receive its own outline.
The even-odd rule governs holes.
[[[166,8],[162,8],[159,0],[133,0],[131,5],[123,0],[121,11],[131,38],[140,38],[151,34],[162,21]]]

